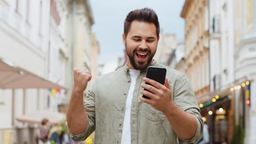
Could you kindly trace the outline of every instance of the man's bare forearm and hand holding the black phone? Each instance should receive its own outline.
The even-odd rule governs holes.
[[[152,93],[143,89],[141,93],[151,99],[141,97],[141,100],[144,103],[152,105],[156,110],[163,112],[179,137],[185,140],[191,139],[197,129],[196,118],[174,104],[172,101],[171,86],[167,78],[165,78],[165,86],[147,77],[144,77],[143,81],[150,83],[152,86],[143,83],[141,87],[148,89]]]

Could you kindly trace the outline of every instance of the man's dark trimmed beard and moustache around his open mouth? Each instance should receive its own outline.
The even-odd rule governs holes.
[[[129,50],[127,50],[127,44],[125,44],[125,51],[126,51],[126,54],[130,60],[130,63],[132,65],[133,68],[135,68],[136,70],[145,70],[148,68],[148,65],[149,63],[152,61],[154,55],[155,55],[155,51],[150,51],[149,49],[146,49],[146,50],[143,50],[143,49],[135,49],[133,50],[133,52],[129,52]],[[138,62],[135,60],[135,55],[136,55],[136,52],[148,52],[148,61],[145,61],[145,62]]]

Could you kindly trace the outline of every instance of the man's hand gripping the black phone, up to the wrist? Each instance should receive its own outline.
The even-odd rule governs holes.
[[[173,103],[171,87],[170,84],[168,83],[168,79],[165,78],[165,86],[159,82],[148,79],[147,77],[144,77],[143,81],[150,83],[150,85],[143,83],[141,87],[148,89],[148,91],[150,92],[142,89],[141,94],[146,95],[151,99],[141,97],[141,100],[144,103],[152,105],[156,110],[165,113],[167,111],[167,105]]]

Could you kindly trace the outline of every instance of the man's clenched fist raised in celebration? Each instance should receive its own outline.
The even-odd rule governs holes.
[[[88,81],[91,80],[91,72],[83,68],[74,68],[74,91],[84,92]]]

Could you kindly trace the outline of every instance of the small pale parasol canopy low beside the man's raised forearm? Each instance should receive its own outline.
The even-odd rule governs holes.
[[[51,110],[39,110],[17,117],[17,120],[20,122],[40,124],[43,118],[48,118],[50,124],[56,124],[66,119],[66,115],[64,113],[54,112]]]

